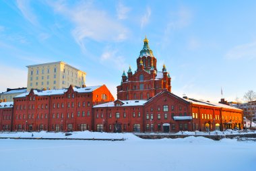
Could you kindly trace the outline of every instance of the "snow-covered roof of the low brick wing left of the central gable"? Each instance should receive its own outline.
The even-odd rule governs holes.
[[[123,103],[121,106],[143,106],[148,100],[119,100]],[[114,107],[115,102],[107,102],[95,105],[94,108]]]

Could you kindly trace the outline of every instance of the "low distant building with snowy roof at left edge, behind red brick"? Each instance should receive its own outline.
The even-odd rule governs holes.
[[[13,102],[13,98],[27,92],[27,88],[7,88],[6,92],[0,94],[0,102]]]

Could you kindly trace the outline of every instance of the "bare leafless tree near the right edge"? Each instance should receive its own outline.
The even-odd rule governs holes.
[[[256,93],[253,92],[253,90],[249,90],[247,93],[245,93],[244,95],[245,101],[247,101],[247,118],[250,119],[251,123],[253,121],[253,115],[255,113],[255,108],[253,106],[253,101],[256,100]],[[250,123],[250,127],[251,127],[251,123]]]

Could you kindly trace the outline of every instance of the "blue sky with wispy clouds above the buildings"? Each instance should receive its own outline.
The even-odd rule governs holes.
[[[172,93],[243,100],[256,92],[256,1],[0,1],[0,92],[26,87],[27,65],[64,61],[85,71],[86,86],[121,75],[147,36],[172,77]]]

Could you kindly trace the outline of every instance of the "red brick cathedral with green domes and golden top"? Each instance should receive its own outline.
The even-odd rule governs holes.
[[[163,91],[171,91],[170,75],[165,65],[162,71],[156,68],[156,58],[148,45],[148,39],[144,39],[144,46],[137,58],[137,70],[131,71],[131,67],[125,75],[123,71],[122,82],[117,86],[117,99],[119,100],[148,100]]]

